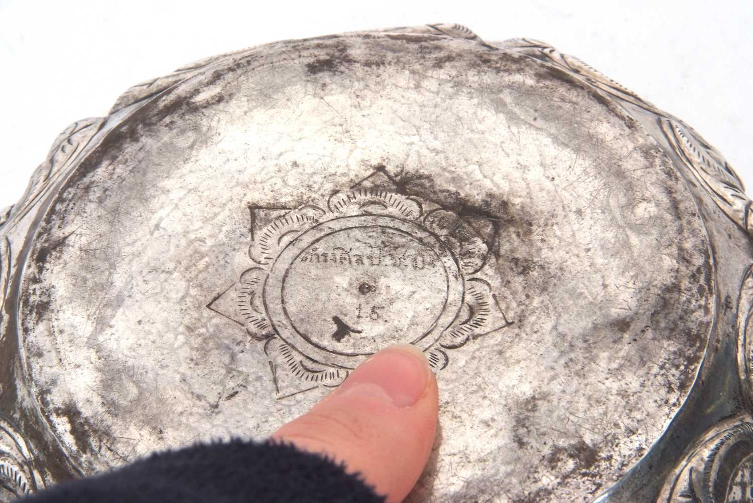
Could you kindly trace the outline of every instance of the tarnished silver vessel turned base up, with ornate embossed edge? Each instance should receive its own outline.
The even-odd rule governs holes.
[[[264,438],[421,347],[408,501],[751,501],[750,200],[538,41],[284,41],[70,126],[0,220],[0,501]]]

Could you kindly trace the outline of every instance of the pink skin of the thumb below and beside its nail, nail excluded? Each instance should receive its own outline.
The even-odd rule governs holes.
[[[344,462],[349,472],[360,473],[387,501],[398,503],[428,462],[437,430],[438,403],[433,375],[424,395],[410,407],[334,392],[282,426],[272,438]]]

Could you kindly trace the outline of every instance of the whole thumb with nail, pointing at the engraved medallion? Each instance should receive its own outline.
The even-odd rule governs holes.
[[[392,503],[410,492],[428,461],[437,410],[437,381],[424,354],[395,344],[272,438],[345,463]]]

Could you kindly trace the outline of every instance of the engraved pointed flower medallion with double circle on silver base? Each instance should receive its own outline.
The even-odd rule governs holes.
[[[406,192],[380,166],[326,202],[249,208],[249,267],[206,307],[265,341],[279,399],[337,386],[393,342],[441,370],[447,350],[511,325],[498,221]]]

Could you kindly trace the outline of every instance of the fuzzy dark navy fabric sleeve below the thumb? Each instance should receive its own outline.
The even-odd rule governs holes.
[[[153,454],[106,474],[59,483],[19,503],[310,501],[383,503],[343,465],[290,444],[233,440]]]

